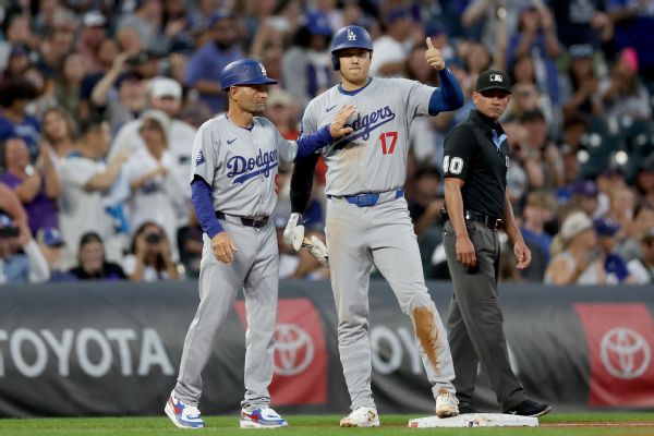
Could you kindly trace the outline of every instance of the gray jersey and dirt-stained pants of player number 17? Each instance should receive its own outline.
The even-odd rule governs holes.
[[[420,353],[434,397],[453,392],[452,360],[443,323],[424,282],[403,184],[409,125],[428,113],[434,88],[403,78],[378,78],[355,92],[337,85],[313,99],[302,134],[330,122],[332,111],[354,105],[354,131],[323,149],[327,165],[326,237],[331,288],[338,312],[340,359],[351,408],[375,407],[371,390],[368,283],[373,264],[392,288],[402,311],[416,326]],[[354,194],[374,193],[360,197]],[[375,205],[363,207],[378,195]],[[353,204],[359,198],[360,205]],[[360,207],[361,206],[361,207]]]

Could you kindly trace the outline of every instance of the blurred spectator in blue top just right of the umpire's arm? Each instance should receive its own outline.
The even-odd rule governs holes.
[[[545,269],[549,265],[552,235],[545,231],[545,225],[554,219],[555,211],[556,199],[549,191],[532,191],[526,196],[520,232],[532,252],[532,262],[520,274],[529,281],[543,281]]]

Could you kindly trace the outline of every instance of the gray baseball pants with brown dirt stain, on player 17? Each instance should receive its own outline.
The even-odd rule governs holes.
[[[403,197],[359,207],[344,198],[327,203],[326,237],[338,315],[338,348],[351,409],[375,407],[371,389],[368,284],[373,264],[414,325],[420,354],[433,385],[453,392],[452,358],[445,328],[425,286],[417,239]],[[387,199],[387,201],[384,201]]]

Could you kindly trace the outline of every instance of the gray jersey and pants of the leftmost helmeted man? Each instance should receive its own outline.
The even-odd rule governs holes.
[[[199,274],[201,302],[191,323],[174,388],[175,397],[195,405],[202,393],[201,372],[215,336],[240,289],[245,295],[245,398],[243,409],[267,407],[274,371],[279,253],[271,220],[244,226],[238,217],[269,217],[277,204],[275,178],[279,161],[291,162],[298,144],[284,140],[267,119],[254,117],[253,128],[233,124],[222,114],[205,122],[193,144],[193,178],[213,190],[214,208],[225,214],[223,229],[238,252],[229,264],[216,259],[204,234]]]

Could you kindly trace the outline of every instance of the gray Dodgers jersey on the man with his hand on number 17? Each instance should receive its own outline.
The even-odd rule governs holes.
[[[275,124],[254,117],[252,128],[227,114],[206,121],[193,143],[193,172],[211,186],[215,210],[242,217],[272,214],[279,161],[292,162],[298,143],[284,140]]]

